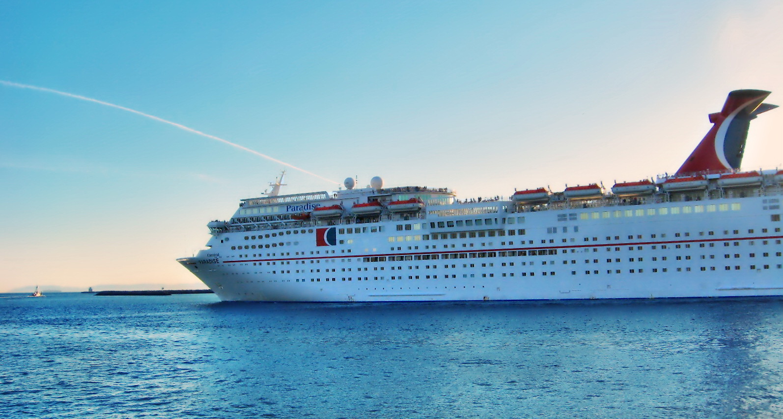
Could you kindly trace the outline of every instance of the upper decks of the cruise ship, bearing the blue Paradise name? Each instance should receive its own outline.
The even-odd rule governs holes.
[[[750,174],[750,175],[749,175]],[[755,174],[755,175],[753,175]],[[308,226],[335,226],[364,224],[412,219],[438,219],[460,215],[491,213],[525,213],[537,211],[563,211],[584,208],[612,208],[630,205],[667,204],[690,201],[742,200],[749,197],[783,195],[783,171],[704,174],[690,177],[659,177],[655,183],[628,182],[615,185],[647,183],[648,192],[614,193],[597,185],[567,188],[562,192],[541,195],[535,200],[520,200],[518,195],[490,200],[457,200],[453,190],[425,186],[394,188],[363,188],[327,192],[298,193],[278,197],[261,197],[242,200],[240,208],[229,222],[210,223],[211,233],[251,231],[259,229],[290,229]],[[597,188],[590,194],[583,192]],[[576,190],[570,194],[569,190]],[[412,200],[410,211],[394,208],[394,204]],[[373,211],[361,213],[354,206],[372,206]],[[391,205],[390,205],[391,204]],[[333,208],[326,217],[311,217],[317,208]]]

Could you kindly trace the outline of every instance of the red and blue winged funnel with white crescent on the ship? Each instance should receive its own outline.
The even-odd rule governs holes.
[[[696,172],[730,172],[739,168],[745,152],[750,121],[756,115],[778,107],[762,103],[770,96],[765,90],[734,90],[729,93],[723,110],[710,114],[713,128],[677,170],[677,175]]]

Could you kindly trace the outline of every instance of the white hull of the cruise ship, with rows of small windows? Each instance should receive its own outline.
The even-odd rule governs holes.
[[[744,197],[522,213],[507,212],[512,202],[499,202],[493,203],[497,211],[491,214],[436,216],[438,211],[452,214],[452,208],[460,207],[454,204],[428,207],[431,214],[419,218],[379,222],[383,228],[377,233],[349,235],[341,226],[331,227],[338,229],[333,246],[317,245],[323,244],[317,228],[298,229],[298,240],[286,235],[274,251],[259,250],[261,245],[245,249],[246,243],[254,243],[247,232],[224,233],[211,240],[209,250],[179,262],[223,301],[781,295],[783,233],[781,222],[774,221],[780,219],[780,207],[768,200]],[[490,226],[460,229],[444,222],[439,228],[433,221],[446,219],[489,220]],[[417,229],[406,230],[407,225]]]

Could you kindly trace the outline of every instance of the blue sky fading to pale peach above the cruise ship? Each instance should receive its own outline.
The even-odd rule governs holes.
[[[731,90],[783,105],[781,22],[779,0],[7,0],[0,292],[204,287],[175,259],[284,168],[282,193],[463,198],[673,173]],[[781,109],[743,168],[783,168]]]

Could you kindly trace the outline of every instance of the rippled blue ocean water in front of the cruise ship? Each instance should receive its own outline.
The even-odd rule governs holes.
[[[0,417],[783,417],[783,298],[0,298]]]

